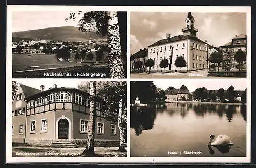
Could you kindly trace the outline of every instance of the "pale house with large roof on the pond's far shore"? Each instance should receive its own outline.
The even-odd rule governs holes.
[[[175,89],[173,87],[166,89],[164,92],[167,97],[166,102],[182,101],[182,97],[188,100],[188,94],[190,93],[188,89]]]

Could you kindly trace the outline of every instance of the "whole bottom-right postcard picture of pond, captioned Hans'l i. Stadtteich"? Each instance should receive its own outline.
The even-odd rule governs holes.
[[[248,155],[246,79],[190,80],[131,81],[131,157]]]

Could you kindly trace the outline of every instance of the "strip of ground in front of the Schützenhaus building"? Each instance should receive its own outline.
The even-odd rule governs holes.
[[[127,152],[117,150],[118,147],[94,147],[96,157],[127,157]],[[18,146],[12,147],[12,157],[83,157],[80,155],[83,151],[84,148]]]

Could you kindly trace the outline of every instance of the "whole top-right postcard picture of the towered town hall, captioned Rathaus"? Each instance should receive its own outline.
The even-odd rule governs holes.
[[[130,15],[131,78],[246,78],[247,13]]]

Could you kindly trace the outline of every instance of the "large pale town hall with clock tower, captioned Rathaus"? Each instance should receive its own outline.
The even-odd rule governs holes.
[[[179,68],[174,65],[177,57],[182,56],[187,63],[181,71],[193,71],[207,68],[208,45],[205,41],[197,37],[198,30],[195,28],[195,19],[191,12],[184,20],[185,28],[182,29],[183,35],[173,36],[166,34],[166,39],[159,40],[148,46],[148,59],[152,59],[155,65],[151,71],[160,71],[160,62],[167,59],[169,72],[178,71]],[[149,69],[149,68],[147,68]]]

